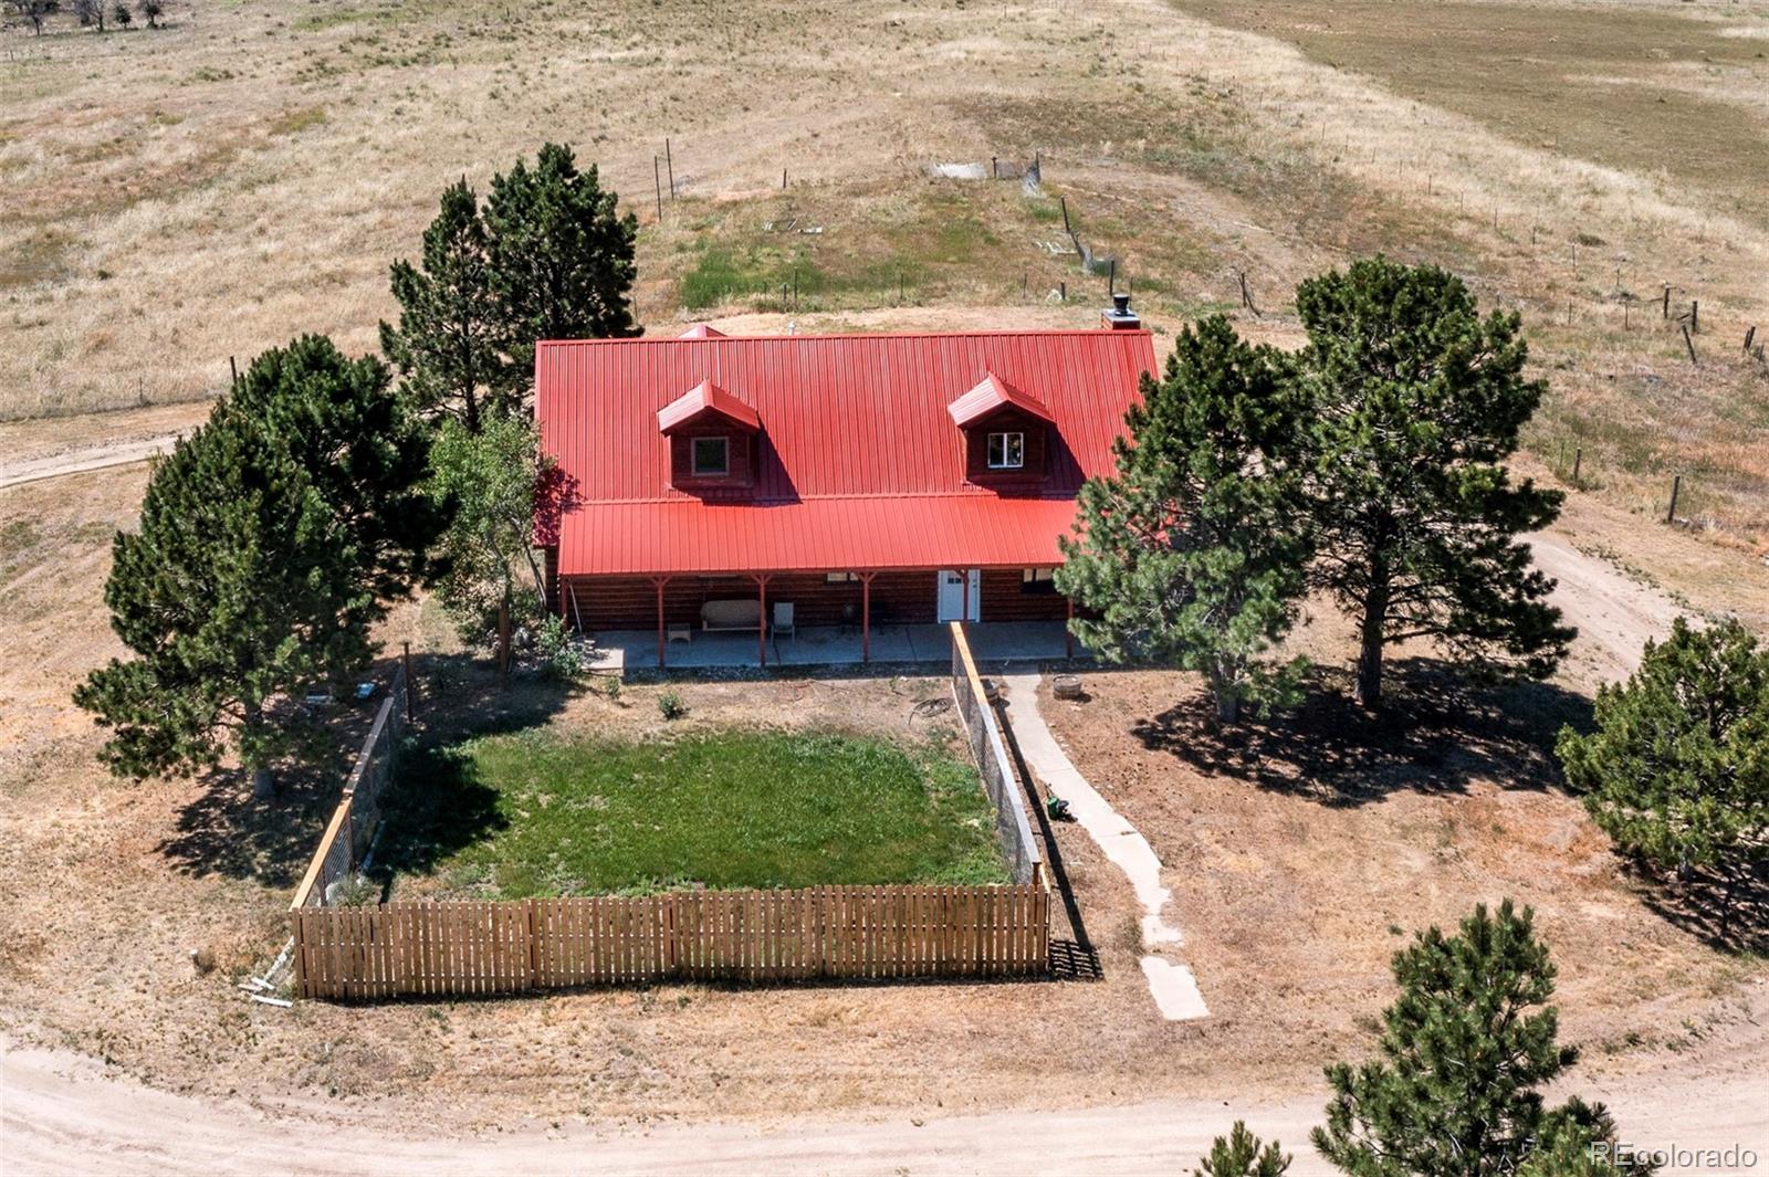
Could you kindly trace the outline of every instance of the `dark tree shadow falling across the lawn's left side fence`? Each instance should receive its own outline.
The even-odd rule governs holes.
[[[325,716],[325,751],[281,767],[274,799],[255,799],[248,774],[237,769],[205,772],[203,788],[179,811],[177,827],[159,843],[159,854],[179,873],[198,878],[251,878],[267,887],[301,882],[343,797],[343,785],[386,700],[396,664],[396,659],[387,659],[364,675],[380,687],[370,700],[333,705]],[[515,732],[545,723],[571,696],[573,686],[534,670],[515,670],[504,687],[495,664],[467,654],[416,654],[410,666],[414,718],[407,726],[400,774],[384,797],[384,808],[391,815],[391,806],[416,797],[430,808],[433,820],[442,824],[446,816],[446,824],[458,825],[456,838],[481,838],[495,811],[486,811],[476,799],[476,783],[433,749],[467,732]]]

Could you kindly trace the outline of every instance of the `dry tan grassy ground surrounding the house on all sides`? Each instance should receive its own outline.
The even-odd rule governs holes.
[[[1440,262],[1525,316],[1551,382],[1520,468],[1566,481],[1583,451],[1585,493],[1553,532],[1562,558],[1603,562],[1654,608],[1769,629],[1769,375],[1739,350],[1748,325],[1769,338],[1769,0],[168,9],[163,30],[0,30],[0,459],[184,428],[230,355],[302,330],[371,348],[393,311],[386,265],[416,251],[442,186],[483,189],[561,140],[640,217],[653,332],[701,316],[1088,325],[1106,279],[1045,247],[1063,201],[1169,338],[1222,309],[1293,345],[1298,279],[1378,249]],[[678,198],[660,219],[665,136]],[[927,175],[1035,152],[1042,193]],[[1675,311],[1700,302],[1693,366],[1659,313],[1666,283]],[[1673,472],[1688,528],[1649,523]],[[1553,786],[1541,730],[1486,709],[1468,726],[1429,719],[1382,762],[1261,746],[1275,769],[1254,772],[1183,755],[1173,709],[1196,686],[1143,673],[1090,675],[1091,702],[1049,714],[1166,859],[1208,1021],[1153,1014],[1134,896],[1068,825],[1056,838],[1104,981],[253,1006],[232,979],[281,944],[331,785],[271,815],[203,781],[120,785],[67,702],[117,650],[110,535],[136,518],[145,477],[0,490],[0,1034],[16,1041],[414,1133],[442,1117],[474,1131],[1290,1099],[1367,1041],[1390,923],[1514,894],[1541,908],[1562,963],[1567,1032],[1590,1048],[1581,1082],[1643,1085],[1716,1041],[1760,1050],[1746,1034],[1760,958],[1649,903]],[[1604,642],[1622,596],[1576,619],[1589,633],[1539,719],[1615,673]],[[387,638],[453,650],[428,606]],[[1344,659],[1341,638],[1327,620],[1307,634],[1327,663]],[[460,689],[485,687],[476,673]],[[900,737],[938,687],[679,689],[690,730],[785,716]],[[662,725],[653,693],[497,705],[646,735]],[[1290,779],[1323,772],[1362,781],[1355,802]],[[1580,949],[1592,944],[1604,949]],[[216,974],[193,974],[193,947]]]

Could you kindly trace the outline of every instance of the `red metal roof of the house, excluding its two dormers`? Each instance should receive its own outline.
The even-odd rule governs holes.
[[[1155,352],[1145,330],[708,336],[541,343],[534,368],[577,491],[563,574],[1012,567],[1060,562]],[[991,376],[1053,422],[1033,493],[966,479],[950,406]],[[670,486],[658,414],[706,382],[762,426],[752,498]]]

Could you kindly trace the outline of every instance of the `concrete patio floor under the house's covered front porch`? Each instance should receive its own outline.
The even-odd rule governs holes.
[[[1051,661],[1065,657],[1063,622],[973,622],[971,654],[985,663]],[[693,631],[688,642],[670,642],[669,670],[713,670],[755,666],[754,633]],[[798,634],[768,636],[770,666],[858,666],[860,627],[805,626]],[[874,626],[874,663],[950,663],[952,638],[946,626]],[[1086,657],[1081,645],[1076,657]],[[656,629],[607,629],[594,636],[593,668],[598,673],[655,670]]]

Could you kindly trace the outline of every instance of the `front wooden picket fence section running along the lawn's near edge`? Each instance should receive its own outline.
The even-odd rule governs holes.
[[[674,891],[302,907],[292,917],[301,997],[453,997],[670,979],[1038,976],[1049,970],[1051,892]]]

